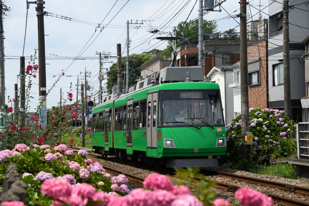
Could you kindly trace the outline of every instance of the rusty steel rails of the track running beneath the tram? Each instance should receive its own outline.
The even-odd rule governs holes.
[[[74,150],[78,150],[80,148],[71,148]],[[125,162],[125,161],[120,161],[117,159],[113,159],[113,158],[105,158],[102,157],[100,155],[97,154],[93,154],[93,153],[89,153],[89,155],[91,157],[95,157],[95,158],[100,158],[100,159],[106,159],[109,161],[116,161],[117,163],[120,164],[125,164],[125,165],[131,165],[133,167],[137,167],[140,169],[149,169],[149,167],[144,166],[144,165],[140,165],[138,163],[133,163],[133,162]],[[127,176],[127,178],[132,179],[134,181],[138,181],[138,182],[143,182],[144,178],[142,177],[138,177],[136,175],[124,172],[124,171],[120,171],[120,170],[115,170],[113,168],[110,167],[106,167],[104,166],[104,168],[106,170],[110,170],[119,174],[124,174]],[[160,174],[168,174],[170,176],[174,176],[175,172],[171,171],[171,170],[165,170],[165,169],[157,169],[157,168],[151,168],[151,170],[153,172],[158,172]],[[308,201],[301,201],[301,200],[297,200],[299,196],[302,196],[302,199],[307,199],[309,200],[309,188],[307,187],[300,187],[300,186],[296,186],[296,185],[290,185],[290,184],[285,184],[285,183],[280,183],[280,182],[273,182],[273,181],[268,181],[268,180],[264,180],[264,179],[258,179],[258,178],[252,178],[252,177],[248,177],[248,176],[242,176],[242,175],[236,175],[236,174],[230,174],[230,173],[224,173],[224,172],[220,172],[220,171],[214,171],[214,170],[206,170],[206,169],[201,169],[201,173],[205,174],[205,176],[218,176],[221,178],[228,178],[231,180],[237,180],[237,181],[241,181],[244,182],[243,185],[246,184],[255,184],[256,187],[260,188],[262,186],[269,188],[269,189],[256,189],[270,197],[272,197],[274,203],[276,203],[277,205],[283,205],[283,206],[309,206],[309,202]],[[199,181],[199,178],[196,178],[197,181]],[[210,181],[210,179],[206,179],[207,181]],[[216,180],[218,182],[217,185],[215,185],[214,187],[223,189],[225,191],[228,192],[232,192],[234,193],[238,188],[240,188],[240,186],[235,186],[234,184],[229,184],[229,183],[224,183],[224,182],[220,182],[218,180]],[[233,182],[233,181],[231,181]],[[245,187],[245,186],[241,186],[241,187]],[[282,192],[282,195],[276,195],[273,194],[273,190],[275,188],[276,193],[278,192]],[[291,195],[286,195],[286,196],[293,196],[292,198],[288,198],[286,197],[284,194],[289,193]],[[306,197],[308,196],[308,197]],[[296,200],[295,200],[296,199]]]

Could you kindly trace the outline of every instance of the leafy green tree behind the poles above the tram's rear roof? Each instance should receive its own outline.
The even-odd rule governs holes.
[[[142,54],[131,54],[129,55],[129,87],[137,83],[137,79],[141,76],[141,66],[145,62],[149,61],[151,58],[156,55],[162,53],[162,50],[153,49],[148,52],[143,52]],[[124,65],[126,64],[126,58],[121,59],[122,65],[122,85],[126,84],[126,68]],[[113,63],[111,67],[109,67],[109,72],[117,72],[117,63]],[[112,86],[117,85],[117,75],[115,74],[107,74],[107,83],[106,90],[108,94],[112,93]]]

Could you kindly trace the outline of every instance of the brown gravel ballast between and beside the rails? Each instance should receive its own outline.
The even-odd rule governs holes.
[[[141,178],[146,178],[150,173],[153,172],[157,172],[158,170],[156,170],[155,168],[147,168],[145,169],[144,167],[136,167],[136,166],[132,166],[131,163],[128,162],[119,162],[119,161],[114,161],[114,160],[108,160],[108,158],[101,158],[100,156],[92,156],[89,157],[92,158],[93,161],[98,161],[100,162],[103,166],[105,167],[111,167],[114,168],[116,170],[119,170],[123,173],[127,173],[127,174],[132,174]],[[238,176],[246,176],[246,177],[253,177],[253,178],[257,178],[257,179],[263,179],[263,180],[269,180],[269,181],[273,181],[273,182],[281,182],[284,183],[288,186],[290,185],[294,185],[294,186],[301,186],[301,187],[306,187],[309,188],[309,182],[306,181],[302,181],[302,180],[296,180],[296,179],[288,179],[288,178],[281,178],[281,177],[277,177],[277,176],[268,176],[268,175],[260,175],[260,174],[253,174],[253,173],[249,173],[249,172],[245,172],[245,171],[241,171],[241,170],[232,170],[232,169],[221,169],[221,168],[207,168],[207,169],[211,169],[211,170],[216,170],[216,171],[221,171],[224,173],[231,173],[231,174],[235,174]],[[169,172],[169,174],[171,174]],[[113,174],[112,174],[113,175]],[[118,174],[114,174],[114,176],[116,176]],[[171,175],[172,178],[176,178],[176,176]],[[128,177],[129,178],[129,177]],[[293,191],[293,188],[289,190],[289,187],[287,187],[288,189],[285,188],[281,188],[278,189],[276,187],[271,187],[271,186],[265,186],[262,184],[258,184],[258,183],[250,183],[248,181],[242,181],[242,180],[238,180],[235,178],[230,178],[230,177],[224,177],[221,175],[205,175],[206,179],[209,180],[215,180],[217,182],[223,183],[223,184],[229,184],[235,187],[249,187],[252,188],[254,190],[257,191],[261,191],[264,192],[266,194],[269,195],[277,195],[277,196],[283,196],[286,198],[290,198],[297,201],[303,201],[303,205],[309,205],[309,195],[305,195],[305,194],[300,194],[298,192],[296,192],[295,190]],[[130,179],[130,178],[129,178]],[[140,188],[142,187],[142,183],[141,181],[136,181],[136,180],[129,180],[128,183],[128,188],[129,189],[135,189],[135,188]],[[190,188],[193,189],[193,188]],[[213,187],[212,188],[214,191],[217,192],[217,196],[218,198],[227,200],[229,202],[233,202],[235,201],[235,193],[233,191],[233,189],[235,190],[235,188],[230,188],[230,189],[224,189],[224,188],[220,188],[220,187]],[[198,194],[196,194],[198,195]],[[302,204],[280,204],[281,201],[279,201],[279,204],[274,204],[274,205],[302,205]]]

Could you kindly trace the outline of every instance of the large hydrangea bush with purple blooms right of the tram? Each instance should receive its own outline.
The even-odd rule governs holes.
[[[226,125],[227,155],[219,159],[221,164],[232,163],[233,168],[246,170],[252,165],[268,165],[276,159],[294,156],[297,153],[296,141],[291,133],[296,132],[296,123],[278,109],[249,109],[250,132],[253,145],[250,146],[250,159],[242,158],[241,115]]]

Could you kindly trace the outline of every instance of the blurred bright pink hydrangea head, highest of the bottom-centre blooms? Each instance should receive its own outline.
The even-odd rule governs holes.
[[[172,184],[167,176],[158,173],[152,173],[144,180],[143,187],[152,190],[162,189],[170,191]]]

